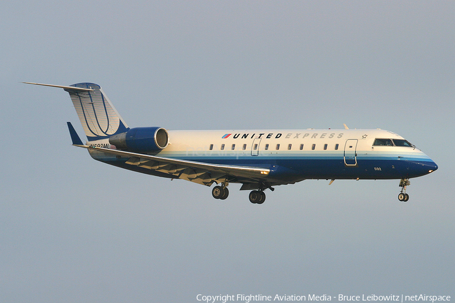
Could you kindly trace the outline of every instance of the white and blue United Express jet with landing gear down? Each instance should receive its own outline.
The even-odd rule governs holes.
[[[93,159],[120,168],[211,186],[225,199],[230,183],[251,190],[249,200],[262,204],[264,190],[305,179],[397,179],[398,200],[406,202],[409,179],[438,169],[415,145],[381,129],[167,130],[129,128],[103,89],[94,83],[63,88],[71,97],[87,137],[83,143],[67,122],[72,145]]]

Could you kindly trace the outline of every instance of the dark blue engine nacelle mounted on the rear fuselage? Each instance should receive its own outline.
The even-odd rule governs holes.
[[[135,127],[111,136],[109,143],[119,149],[148,153],[165,148],[169,144],[169,134],[162,127]]]

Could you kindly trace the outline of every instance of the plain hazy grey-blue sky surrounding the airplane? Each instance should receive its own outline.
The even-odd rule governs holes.
[[[455,297],[453,2],[6,1],[0,300],[202,294]],[[100,84],[130,127],[383,128],[438,165],[306,180],[261,206],[93,161],[61,89]]]

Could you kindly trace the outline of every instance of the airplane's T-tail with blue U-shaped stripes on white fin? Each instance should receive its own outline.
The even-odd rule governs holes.
[[[30,83],[63,88],[70,94],[77,116],[87,140],[108,139],[112,135],[124,133],[129,127],[120,117],[103,89],[95,83],[77,83],[70,86]]]

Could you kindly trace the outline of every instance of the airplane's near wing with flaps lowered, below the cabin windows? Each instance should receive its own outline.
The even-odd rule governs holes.
[[[178,179],[184,179],[207,186],[212,185],[213,182],[220,183],[225,180],[231,181],[233,179],[236,179],[239,183],[257,183],[270,173],[270,170],[267,168],[210,164],[131,153],[130,151],[103,147],[87,145],[77,146],[121,157],[129,157],[126,164],[170,174]]]

